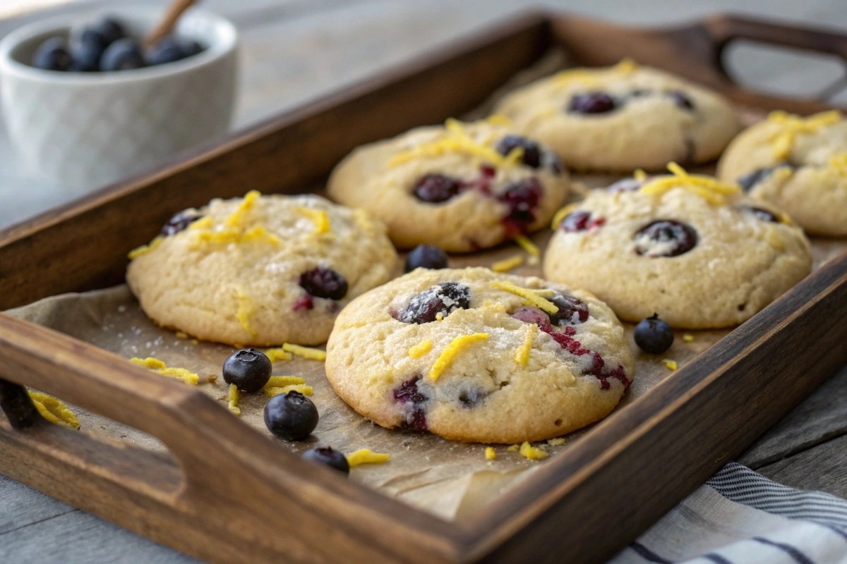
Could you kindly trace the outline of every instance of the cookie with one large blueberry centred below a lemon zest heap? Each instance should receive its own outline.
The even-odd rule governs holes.
[[[783,212],[735,184],[668,168],[560,211],[545,277],[588,289],[623,320],[657,313],[707,329],[749,319],[809,274],[809,241]]]

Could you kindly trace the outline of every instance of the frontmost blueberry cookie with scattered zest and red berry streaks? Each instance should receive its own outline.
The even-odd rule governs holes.
[[[634,366],[623,326],[590,293],[487,268],[418,269],[340,313],[326,375],[384,427],[517,443],[606,417]]]

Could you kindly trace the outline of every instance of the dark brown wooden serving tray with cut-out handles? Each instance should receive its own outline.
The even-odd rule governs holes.
[[[319,185],[357,145],[460,115],[553,46],[576,63],[667,68],[746,107],[820,101],[740,89],[747,38],[847,58],[847,36],[718,17],[635,30],[530,14],[0,232],[0,310],[123,281],[174,211]],[[304,463],[196,388],[0,315],[0,472],[208,561],[602,561],[847,363],[847,255],[722,338],[468,520],[448,523]],[[47,422],[22,386],[158,437],[173,457]]]

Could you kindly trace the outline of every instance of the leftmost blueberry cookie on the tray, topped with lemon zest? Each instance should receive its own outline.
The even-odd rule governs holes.
[[[255,191],[180,211],[130,259],[126,282],[159,325],[253,346],[325,342],[341,306],[397,267],[365,211]]]

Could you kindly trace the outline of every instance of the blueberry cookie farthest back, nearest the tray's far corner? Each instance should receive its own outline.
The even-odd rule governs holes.
[[[724,97],[629,60],[537,80],[503,98],[495,112],[581,171],[711,161],[740,129]]]

